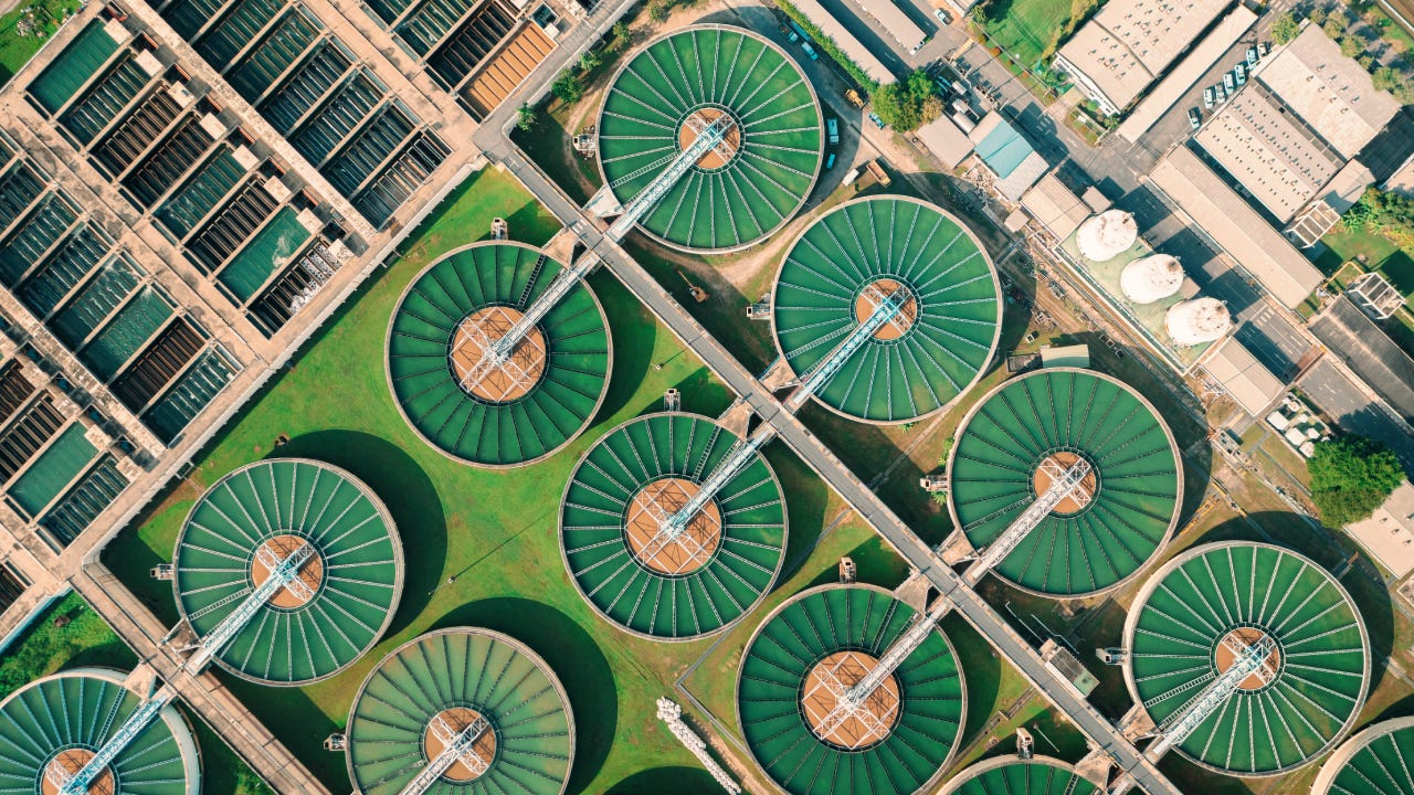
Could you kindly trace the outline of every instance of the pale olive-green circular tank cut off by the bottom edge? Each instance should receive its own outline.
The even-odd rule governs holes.
[[[361,795],[397,795],[479,720],[481,764],[454,762],[428,795],[564,792],[574,717],[560,680],[519,641],[471,627],[413,638],[368,675],[349,710],[349,779]]]

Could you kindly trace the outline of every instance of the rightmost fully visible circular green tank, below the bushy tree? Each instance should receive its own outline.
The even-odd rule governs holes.
[[[1227,671],[1275,645],[1260,673],[1178,751],[1232,775],[1275,775],[1333,745],[1359,717],[1370,641],[1350,594],[1295,552],[1250,542],[1193,547],[1145,583],[1128,613],[1124,679],[1157,724]]]

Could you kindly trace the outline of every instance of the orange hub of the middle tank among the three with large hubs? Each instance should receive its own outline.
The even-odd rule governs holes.
[[[721,545],[721,509],[715,501],[708,499],[676,538],[669,539],[662,530],[663,522],[682,511],[697,491],[691,481],[663,478],[633,495],[624,530],[628,549],[639,563],[662,574],[679,576],[711,560]]]

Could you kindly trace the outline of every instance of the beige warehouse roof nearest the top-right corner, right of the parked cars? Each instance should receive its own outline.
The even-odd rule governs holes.
[[[1394,117],[1400,103],[1316,25],[1270,59],[1257,78],[1343,157],[1355,157]]]

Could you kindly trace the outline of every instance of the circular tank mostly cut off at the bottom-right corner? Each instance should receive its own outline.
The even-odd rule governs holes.
[[[1376,723],[1331,754],[1311,795],[1414,795],[1414,717]]]

